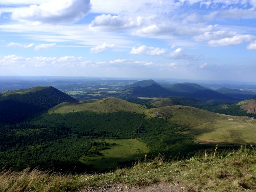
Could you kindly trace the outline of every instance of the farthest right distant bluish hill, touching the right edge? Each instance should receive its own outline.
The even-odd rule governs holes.
[[[252,95],[255,94],[255,92],[252,91],[241,91],[239,89],[230,89],[225,87],[219,88],[215,91],[240,100],[251,99]]]

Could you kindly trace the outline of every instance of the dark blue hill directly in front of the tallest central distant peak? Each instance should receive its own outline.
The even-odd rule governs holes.
[[[175,95],[173,91],[167,90],[155,83],[146,87],[131,87],[123,90],[120,93],[130,94],[138,97],[165,97]]]

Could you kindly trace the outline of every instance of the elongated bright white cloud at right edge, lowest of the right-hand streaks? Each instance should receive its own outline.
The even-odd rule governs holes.
[[[253,35],[235,35],[231,38],[223,38],[219,40],[211,40],[208,42],[211,46],[227,46],[227,45],[239,45],[247,41],[255,39]]]

